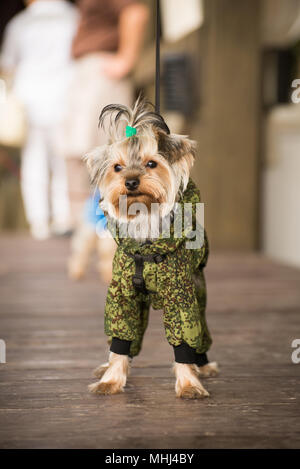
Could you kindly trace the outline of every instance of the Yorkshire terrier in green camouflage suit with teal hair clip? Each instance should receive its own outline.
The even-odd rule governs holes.
[[[211,345],[203,275],[208,242],[199,224],[200,194],[190,179],[195,142],[171,134],[142,98],[132,109],[106,106],[99,122],[105,127],[107,121],[108,143],[85,156],[117,242],[105,308],[109,360],[95,370],[99,380],[89,390],[124,390],[152,306],[163,310],[174,349],[176,395],[207,397],[199,378],[215,376],[218,366],[206,355]]]

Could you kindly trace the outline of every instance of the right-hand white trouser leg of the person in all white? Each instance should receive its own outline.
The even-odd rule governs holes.
[[[51,168],[51,209],[52,229],[56,234],[63,234],[71,228],[70,202],[66,162],[59,152],[61,129],[48,130],[48,157]]]

